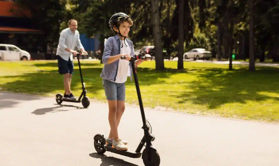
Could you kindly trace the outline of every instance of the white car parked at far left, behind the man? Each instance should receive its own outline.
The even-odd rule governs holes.
[[[29,52],[12,44],[0,44],[0,60],[30,60]]]

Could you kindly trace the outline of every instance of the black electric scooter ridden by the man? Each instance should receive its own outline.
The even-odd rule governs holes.
[[[61,93],[58,93],[55,96],[57,104],[61,104],[63,101],[66,101],[66,102],[75,102],[75,103],[82,102],[82,106],[84,108],[87,108],[90,105],[89,97],[86,96],[87,90],[85,90],[85,83],[83,82],[83,79],[82,79],[82,69],[81,69],[81,66],[80,66],[79,55],[82,55],[82,54],[81,53],[76,54],[77,60],[78,60],[79,72],[80,72],[81,81],[82,81],[82,93],[77,100],[64,98]],[[83,96],[83,98],[82,98],[82,96]],[[81,98],[82,98],[82,100],[81,100]]]

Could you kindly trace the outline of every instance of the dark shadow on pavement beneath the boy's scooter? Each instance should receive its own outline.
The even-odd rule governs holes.
[[[129,163],[127,161],[124,161],[122,159],[118,159],[115,157],[108,157],[104,154],[99,154],[99,153],[90,153],[90,157],[92,158],[100,158],[102,160],[102,163],[100,166],[139,166],[133,163]]]

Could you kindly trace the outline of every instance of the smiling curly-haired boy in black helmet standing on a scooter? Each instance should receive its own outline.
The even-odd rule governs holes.
[[[132,25],[132,19],[125,13],[116,13],[109,19],[110,29],[115,36],[108,38],[102,58],[104,67],[100,76],[103,78],[103,87],[108,101],[110,125],[106,144],[117,150],[128,150],[127,142],[119,139],[117,128],[125,110],[125,82],[128,76],[132,81],[133,75],[129,60],[134,56],[134,47],[133,42],[126,39]],[[125,56],[126,59],[121,60],[121,56]],[[145,56],[151,57],[149,54]],[[140,65],[143,61],[137,60],[135,64]]]

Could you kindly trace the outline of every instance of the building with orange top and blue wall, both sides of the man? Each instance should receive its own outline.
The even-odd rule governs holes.
[[[43,36],[44,32],[32,23],[29,11],[19,11],[15,0],[0,0],[0,44],[16,45],[28,51],[32,59],[56,59],[56,48],[45,45]],[[94,55],[99,49],[99,35],[87,38],[80,34],[80,39],[88,53]]]

